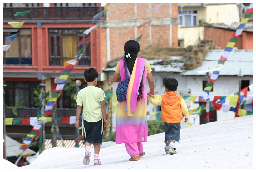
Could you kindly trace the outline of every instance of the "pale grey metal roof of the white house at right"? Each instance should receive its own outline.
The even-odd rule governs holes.
[[[204,73],[198,73],[198,71],[215,69],[218,65],[220,56],[224,50],[211,50],[202,66],[186,71],[184,76],[204,76]],[[237,76],[241,69],[241,75],[253,76],[253,51],[252,50],[232,50],[229,57],[224,63],[223,68],[220,70],[219,75],[223,76]],[[212,73],[212,71],[210,71]]]

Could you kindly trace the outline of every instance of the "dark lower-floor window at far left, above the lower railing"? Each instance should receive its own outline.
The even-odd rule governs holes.
[[[7,106],[25,106],[36,107],[34,101],[34,88],[36,88],[40,82],[15,82],[6,81],[5,88],[5,103]]]

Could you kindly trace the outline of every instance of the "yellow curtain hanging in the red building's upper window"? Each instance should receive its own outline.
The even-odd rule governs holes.
[[[63,36],[62,37],[62,50],[63,50],[63,63],[68,58],[73,58],[76,56],[76,46],[77,46],[77,39],[76,36]],[[66,58],[66,59],[65,59]]]

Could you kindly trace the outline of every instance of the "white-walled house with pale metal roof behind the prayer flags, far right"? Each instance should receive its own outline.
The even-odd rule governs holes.
[[[215,69],[223,52],[224,50],[210,50],[202,66],[182,74],[186,78],[187,88],[191,90],[191,95],[200,96],[210,74],[212,74],[212,71],[208,73],[199,73],[198,71]],[[209,92],[210,100],[212,101],[214,96],[229,96],[239,92],[239,80],[241,81],[241,89],[253,84],[253,50],[233,49],[231,51],[214,82],[213,89]],[[241,92],[241,94],[243,93]],[[248,90],[247,94],[252,95],[252,92]],[[190,102],[190,107],[194,106],[198,105]],[[252,104],[244,105],[241,108],[253,111]],[[200,123],[197,121],[197,124],[203,123],[204,116],[205,114],[202,115]],[[230,119],[234,116],[235,114],[232,111],[210,111],[210,120],[212,121]]]

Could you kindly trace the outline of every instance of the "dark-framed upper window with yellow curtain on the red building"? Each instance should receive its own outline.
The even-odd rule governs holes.
[[[79,66],[91,66],[90,43],[77,47],[77,43],[89,37],[83,34],[85,29],[49,29],[50,65],[63,66],[65,61],[73,59],[77,52],[85,47],[85,55],[80,59]]]

